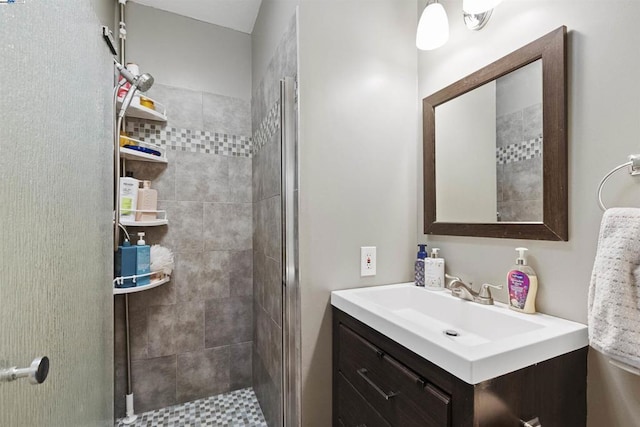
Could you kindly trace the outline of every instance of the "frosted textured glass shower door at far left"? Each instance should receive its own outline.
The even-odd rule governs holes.
[[[2,426],[113,426],[112,5],[0,4]]]

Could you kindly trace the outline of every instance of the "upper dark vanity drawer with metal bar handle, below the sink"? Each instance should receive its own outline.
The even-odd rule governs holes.
[[[448,394],[343,324],[338,334],[339,371],[391,425],[450,425]]]

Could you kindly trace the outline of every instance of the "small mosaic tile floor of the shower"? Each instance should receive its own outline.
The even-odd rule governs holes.
[[[133,427],[267,427],[252,388],[138,414]],[[116,420],[115,427],[126,427]]]

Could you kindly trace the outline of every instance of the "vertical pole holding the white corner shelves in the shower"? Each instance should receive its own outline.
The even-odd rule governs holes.
[[[127,0],[118,0],[120,9],[120,21],[118,24],[118,34],[120,37],[120,63],[126,66],[126,39],[127,39],[127,24],[125,21],[125,8],[127,6]],[[133,90],[131,88],[130,90]],[[124,108],[124,105],[122,106]],[[122,119],[122,128],[125,127],[125,119]],[[119,138],[120,128],[116,123],[116,140]],[[115,188],[116,188],[116,211],[115,211],[115,228],[114,228],[114,240],[117,249],[120,242],[120,144],[118,143],[115,150]],[[129,333],[129,294],[124,294],[124,327],[125,327],[125,350],[127,353],[127,396],[126,396],[126,412],[125,418],[122,420],[124,424],[133,424],[138,418],[135,415],[133,407],[133,387],[131,385],[131,338]]]

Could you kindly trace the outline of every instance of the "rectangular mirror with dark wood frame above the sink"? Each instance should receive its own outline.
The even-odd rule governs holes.
[[[423,99],[425,234],[569,240],[566,39]]]

